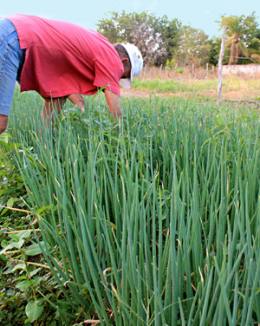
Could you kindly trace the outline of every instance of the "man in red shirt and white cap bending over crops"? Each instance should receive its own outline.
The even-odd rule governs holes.
[[[129,88],[143,58],[130,43],[112,45],[101,34],[62,21],[16,15],[0,20],[0,134],[5,131],[16,81],[44,99],[49,120],[67,99],[84,111],[82,95],[103,90],[109,111],[121,116],[120,82]]]

